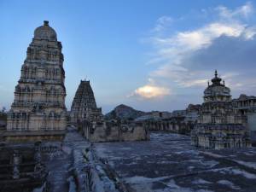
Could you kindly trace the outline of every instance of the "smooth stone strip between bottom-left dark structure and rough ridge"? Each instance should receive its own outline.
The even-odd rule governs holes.
[[[49,172],[47,177],[49,192],[75,191],[73,171],[75,168],[79,169],[75,161],[82,156],[84,148],[90,147],[90,143],[70,127],[63,143],[44,143],[44,145],[58,148],[43,155],[44,164]]]

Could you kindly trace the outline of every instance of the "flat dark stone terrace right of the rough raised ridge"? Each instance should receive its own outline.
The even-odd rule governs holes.
[[[190,137],[151,133],[150,141],[95,143],[129,191],[255,191],[256,149],[196,149]]]

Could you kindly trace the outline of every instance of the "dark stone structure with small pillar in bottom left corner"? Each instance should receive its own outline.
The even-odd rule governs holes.
[[[36,145],[0,147],[0,191],[32,191],[44,183],[47,172]]]

